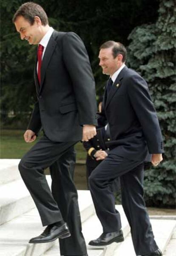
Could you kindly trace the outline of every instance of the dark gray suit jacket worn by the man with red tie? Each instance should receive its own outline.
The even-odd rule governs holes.
[[[73,32],[54,31],[41,67],[41,85],[34,69],[37,102],[28,125],[36,134],[43,128],[51,141],[77,141],[82,125],[96,125],[95,84],[88,54]]]

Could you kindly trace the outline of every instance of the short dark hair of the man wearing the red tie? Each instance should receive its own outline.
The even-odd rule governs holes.
[[[17,17],[23,16],[25,20],[28,20],[31,25],[34,24],[35,16],[38,16],[42,22],[42,25],[48,24],[48,17],[43,8],[37,3],[27,2],[23,3],[14,14],[12,19],[13,23],[17,20]]]

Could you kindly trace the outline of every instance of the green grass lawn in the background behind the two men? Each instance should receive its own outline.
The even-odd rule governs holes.
[[[0,131],[0,158],[16,159],[21,158],[37,142],[26,143],[23,138],[23,130],[1,130]],[[77,161],[84,161],[86,151],[81,142],[75,146],[77,151]]]

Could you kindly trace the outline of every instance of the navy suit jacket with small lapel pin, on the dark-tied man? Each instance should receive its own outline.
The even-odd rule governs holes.
[[[144,160],[148,154],[163,153],[163,140],[148,85],[135,71],[125,66],[107,96],[105,88],[99,125],[108,120],[110,149],[127,159]]]

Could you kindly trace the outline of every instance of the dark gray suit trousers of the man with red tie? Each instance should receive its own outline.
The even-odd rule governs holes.
[[[20,174],[34,199],[43,226],[62,219],[68,223],[71,237],[60,239],[60,252],[64,256],[86,254],[77,190],[73,182],[75,143],[51,142],[42,137],[19,164]],[[44,175],[44,169],[49,166],[52,193]]]

